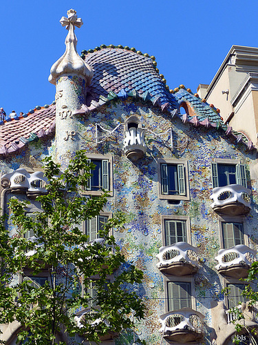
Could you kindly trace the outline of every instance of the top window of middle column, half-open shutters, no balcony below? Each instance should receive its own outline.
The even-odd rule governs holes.
[[[186,161],[159,159],[160,199],[189,199]]]

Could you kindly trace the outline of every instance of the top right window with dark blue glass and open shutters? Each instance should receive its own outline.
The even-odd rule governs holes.
[[[211,164],[213,188],[240,184],[246,187],[246,168],[243,164]]]

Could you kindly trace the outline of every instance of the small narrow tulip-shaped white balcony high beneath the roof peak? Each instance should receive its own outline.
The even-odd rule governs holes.
[[[131,161],[138,161],[146,152],[144,129],[131,127],[125,131],[123,150]]]

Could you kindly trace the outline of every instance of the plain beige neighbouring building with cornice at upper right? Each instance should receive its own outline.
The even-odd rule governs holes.
[[[197,92],[258,147],[258,48],[232,46],[210,85],[200,84]]]

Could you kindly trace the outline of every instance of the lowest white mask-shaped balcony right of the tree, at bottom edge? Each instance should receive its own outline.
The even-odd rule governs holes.
[[[162,326],[159,331],[169,342],[200,342],[204,335],[203,319],[204,315],[191,308],[170,311],[160,316],[159,322]]]

